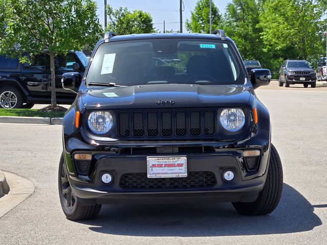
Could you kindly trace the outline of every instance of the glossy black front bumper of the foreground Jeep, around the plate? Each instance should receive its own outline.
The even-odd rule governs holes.
[[[78,200],[84,204],[111,204],[111,203],[175,203],[175,202],[252,202],[254,201],[266,181],[269,155],[270,155],[270,134],[258,130],[253,137],[247,141],[235,142],[157,142],[149,144],[143,142],[137,148],[149,149],[167,148],[168,146],[178,147],[210,147],[211,152],[195,153],[160,153],[128,154],[123,151],[129,145],[107,145],[105,148],[92,148],[77,138],[70,138],[66,141],[65,163],[69,172],[69,183],[73,193]],[[106,150],[104,150],[106,149]],[[248,171],[243,157],[243,150],[258,149],[261,151],[258,168]],[[73,159],[74,153],[88,153],[92,155],[89,175],[80,176],[77,173]],[[209,172],[213,173],[216,182],[212,186],[192,185],[177,188],[125,188],[122,186],[122,178],[126,174],[146,174],[147,156],[187,156],[188,173]],[[225,170],[232,170],[235,178],[224,181],[222,176]],[[109,172],[113,176],[113,182],[109,185],[102,183],[101,175]],[[180,178],[182,179],[182,178]],[[165,181],[165,180],[163,180]]]

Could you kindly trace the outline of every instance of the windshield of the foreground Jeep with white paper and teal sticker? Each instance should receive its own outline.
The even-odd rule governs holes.
[[[90,64],[88,83],[244,84],[229,43],[201,39],[150,39],[103,43]]]

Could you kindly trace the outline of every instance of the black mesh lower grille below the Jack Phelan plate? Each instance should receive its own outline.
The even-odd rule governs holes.
[[[124,174],[120,179],[122,189],[187,189],[209,188],[217,184],[211,171],[190,172],[186,178],[149,179],[146,173]]]

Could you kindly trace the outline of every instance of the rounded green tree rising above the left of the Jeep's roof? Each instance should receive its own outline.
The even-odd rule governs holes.
[[[106,12],[109,17],[107,31],[120,35],[154,32],[151,14],[142,10],[130,12],[127,8],[113,9],[107,5]]]

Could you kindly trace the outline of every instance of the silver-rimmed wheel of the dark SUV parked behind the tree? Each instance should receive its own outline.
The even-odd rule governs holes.
[[[15,87],[0,88],[0,108],[21,108],[23,103],[21,92]]]

